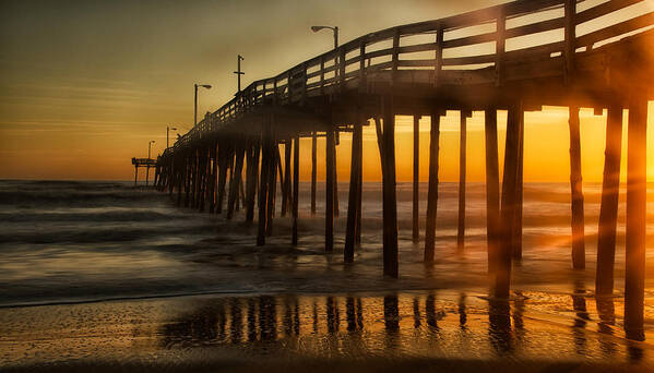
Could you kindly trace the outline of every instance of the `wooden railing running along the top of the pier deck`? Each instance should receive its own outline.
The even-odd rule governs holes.
[[[368,80],[380,73],[390,73],[390,84],[396,82],[401,70],[426,70],[435,86],[465,84],[466,76],[472,73],[476,82],[501,85],[511,79],[507,72],[512,65],[539,61],[540,71],[555,69],[566,75],[574,67],[576,52],[654,25],[654,12],[645,12],[578,36],[579,26],[643,0],[610,0],[578,12],[578,7],[584,2],[519,0],[361,36],[277,76],[253,82],[229,103],[207,115],[167,152],[175,152],[218,130],[257,106],[301,105],[310,97],[346,88],[365,91]],[[560,37],[548,37],[548,33],[559,33]],[[538,39],[538,34],[544,35],[544,43],[521,41],[526,37]],[[508,41],[518,46],[508,48]],[[475,51],[461,52],[465,48]],[[489,50],[483,52],[485,48]]]

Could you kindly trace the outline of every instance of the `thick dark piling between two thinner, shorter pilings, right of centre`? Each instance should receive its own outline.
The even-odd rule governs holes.
[[[429,191],[427,196],[427,222],[425,228],[425,263],[433,263],[436,246],[436,215],[438,210],[438,156],[440,141],[440,109],[431,111],[429,134]]]

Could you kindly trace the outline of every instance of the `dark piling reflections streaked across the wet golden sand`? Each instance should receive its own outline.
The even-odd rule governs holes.
[[[290,349],[329,357],[379,351],[465,356],[477,349],[476,353],[495,358],[533,353],[552,359],[568,354],[578,359],[597,356],[611,360],[623,357],[632,363],[643,361],[646,354],[642,345],[626,339],[620,342],[621,335],[616,334],[614,299],[597,298],[595,314],[587,306],[586,293],[583,286],[574,290],[570,324],[560,326],[547,320],[536,322],[542,314],[526,316],[531,298],[520,292],[511,300],[485,300],[463,292],[444,298],[440,294],[437,298],[435,292],[217,298],[199,302],[191,312],[164,323],[160,345],[167,349],[198,346],[257,349],[264,344],[271,353],[277,349],[287,353]],[[563,306],[556,304],[557,309]],[[598,336],[588,339],[594,320]],[[555,336],[558,352],[551,351],[550,338]]]

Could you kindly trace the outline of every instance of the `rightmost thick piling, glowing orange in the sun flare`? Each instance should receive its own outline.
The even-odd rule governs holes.
[[[647,100],[634,95],[629,104],[627,155],[627,228],[625,268],[625,329],[642,340],[645,290],[645,230],[647,196]]]

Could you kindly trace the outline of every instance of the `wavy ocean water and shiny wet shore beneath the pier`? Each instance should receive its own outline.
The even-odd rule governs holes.
[[[0,181],[0,368],[170,366],[180,357],[178,368],[193,370],[258,357],[283,366],[300,358],[373,364],[511,357],[518,366],[543,359],[650,369],[652,276],[645,339],[621,329],[623,190],[616,297],[610,305],[593,297],[601,191],[584,184],[587,267],[580,272],[571,268],[569,184],[525,183],[523,260],[502,305],[487,298],[483,183],[467,185],[462,251],[457,184],[440,184],[433,266],[423,263],[423,240],[412,242],[412,184],[397,184],[400,278],[391,279],[382,276],[379,183],[364,184],[362,244],[345,265],[346,183],[338,185],[335,250],[325,254],[322,184],[316,217],[309,184],[300,185],[297,248],[280,210],[273,237],[258,248],[257,225],[245,222],[242,209],[228,221],[131,182]],[[426,197],[423,183],[421,239]],[[647,212],[652,249],[654,184]],[[647,274],[653,255],[649,250]]]

